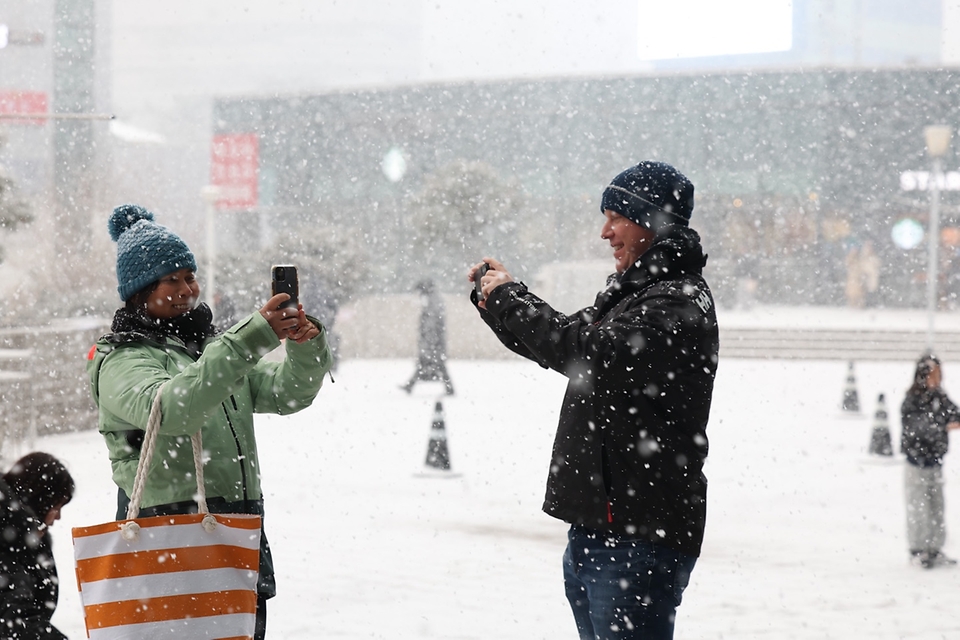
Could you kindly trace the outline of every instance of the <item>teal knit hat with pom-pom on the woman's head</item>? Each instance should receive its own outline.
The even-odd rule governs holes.
[[[174,271],[197,270],[197,261],[180,236],[155,223],[153,214],[139,205],[114,209],[108,228],[117,243],[117,291],[124,302]]]

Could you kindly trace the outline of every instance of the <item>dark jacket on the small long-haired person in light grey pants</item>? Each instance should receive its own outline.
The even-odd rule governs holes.
[[[918,467],[939,466],[950,445],[947,425],[960,421],[957,405],[940,388],[908,391],[900,416],[900,449],[907,462]]]

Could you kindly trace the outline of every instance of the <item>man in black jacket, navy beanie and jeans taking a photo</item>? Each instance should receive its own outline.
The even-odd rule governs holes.
[[[471,297],[504,345],[569,379],[543,510],[571,524],[580,637],[672,638],[706,520],[717,318],[683,174],[641,162],[600,210],[616,273],[593,306],[564,315],[492,258]]]

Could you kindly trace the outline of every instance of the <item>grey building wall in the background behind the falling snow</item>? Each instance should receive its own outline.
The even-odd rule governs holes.
[[[890,283],[885,302],[916,304],[907,285],[922,260],[893,247],[889,230],[903,216],[925,222],[928,200],[902,192],[899,176],[929,166],[924,126],[960,123],[958,79],[955,70],[818,70],[230,99],[215,105],[214,133],[259,134],[261,214],[381,229],[402,219],[385,211],[458,158],[517,180],[529,203],[517,215],[555,216],[557,229],[581,223],[621,169],[658,158],[697,185],[693,226],[721,290],[749,253],[761,297],[842,302],[838,263],[870,240]],[[398,184],[380,169],[391,147],[408,159]],[[957,166],[955,147],[944,166]],[[944,192],[945,225],[958,222],[958,204]],[[571,255],[570,236],[556,236],[542,260]]]

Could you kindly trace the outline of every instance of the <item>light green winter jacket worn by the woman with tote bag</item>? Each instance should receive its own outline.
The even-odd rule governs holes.
[[[160,385],[162,419],[141,507],[196,499],[190,437],[202,429],[208,498],[259,500],[260,463],[254,413],[291,414],[310,406],[332,366],[322,325],[304,344],[286,340],[282,362],[263,357],[280,346],[260,313],[205,341],[194,359],[175,337],[158,343],[141,336],[102,337],[87,373],[100,410],[113,479],[128,496],[140,456],[139,441]]]

